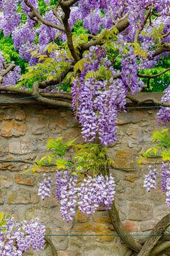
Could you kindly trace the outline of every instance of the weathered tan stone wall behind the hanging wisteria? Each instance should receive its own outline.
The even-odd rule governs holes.
[[[46,154],[46,142],[50,137],[77,138],[83,143],[79,122],[73,118],[72,111],[36,104],[35,100],[15,100],[2,102],[14,96],[0,98],[0,160],[28,161],[27,163],[0,163],[0,212],[9,213],[16,220],[23,215],[39,217],[46,226],[46,233],[53,235],[111,235],[115,233],[108,213],[98,208],[96,213],[82,215],[77,211],[72,222],[62,221],[60,204],[55,200],[55,185],[51,198],[41,201],[37,195],[42,173],[41,167],[33,175],[29,161],[40,159]],[[16,98],[16,97],[15,97]],[[2,100],[1,100],[2,99]],[[147,174],[147,160],[137,166],[142,150],[152,145],[152,133],[159,129],[157,108],[130,109],[118,115],[118,140],[108,147],[108,156],[114,160],[111,169],[115,176],[115,204],[125,228],[132,234],[149,233],[155,223],[169,210],[165,196],[158,188],[147,193],[143,188],[143,178]],[[68,159],[72,150],[68,152]],[[52,176],[55,176],[54,170]],[[137,237],[137,238],[140,238]],[[59,236],[52,237],[59,256],[109,256],[123,255],[125,245],[120,238],[113,236]],[[42,252],[30,251],[27,255],[52,255],[50,246]]]

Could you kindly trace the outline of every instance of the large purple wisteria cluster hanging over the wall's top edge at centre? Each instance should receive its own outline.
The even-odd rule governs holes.
[[[84,70],[72,82],[72,106],[82,125],[81,133],[85,141],[94,142],[98,133],[101,143],[108,145],[116,140],[118,108],[125,108],[128,90],[122,80],[113,80],[112,74],[116,75],[118,71],[111,66],[111,60],[106,56],[107,50],[100,46],[91,46],[89,50],[89,55],[84,56],[88,60],[84,62]],[[108,71],[111,74],[110,78],[86,78],[91,72],[100,75],[101,65],[105,73]]]

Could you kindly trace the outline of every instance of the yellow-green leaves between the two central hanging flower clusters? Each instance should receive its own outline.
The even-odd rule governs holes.
[[[99,171],[99,167],[104,167],[113,163],[112,159],[107,158],[107,148],[101,148],[98,144],[74,144],[76,139],[63,142],[62,137],[57,139],[49,139],[47,142],[47,151],[53,151],[46,156],[43,156],[40,160],[37,160],[37,164],[34,165],[32,171],[35,173],[39,166],[56,166],[57,169],[72,168],[72,174],[81,175],[82,170],[91,170],[95,174],[95,171]],[[66,161],[63,158],[67,156],[67,150],[72,147],[75,154],[72,161]],[[30,170],[27,170],[30,171]]]

